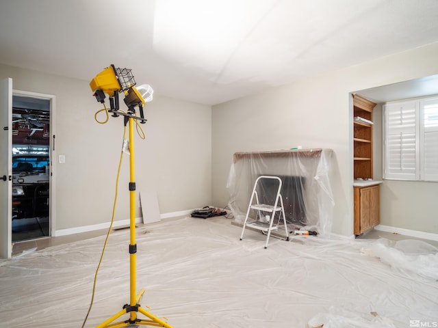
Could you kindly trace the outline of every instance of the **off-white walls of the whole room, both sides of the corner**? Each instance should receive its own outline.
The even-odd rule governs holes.
[[[225,186],[234,152],[297,145],[331,148],[336,163],[332,186],[336,203],[333,232],[350,236],[353,222],[352,104],[349,94],[437,74],[437,56],[438,43],[430,44],[319,77],[272,87],[255,96],[216,105],[212,111],[205,105],[155,96],[146,108],[149,120],[143,126],[146,141],[136,137],[137,189],[157,190],[161,213],[207,204],[225,206],[228,202]],[[96,73],[90,72],[90,77]],[[94,121],[94,112],[101,105],[91,96],[89,81],[0,64],[0,78],[5,77],[14,79],[16,90],[56,96],[54,158],[64,154],[66,163],[54,167],[55,228],[109,221],[123,135],[121,119],[111,119],[105,125]],[[128,161],[125,156],[116,219],[129,216]],[[436,213],[433,195],[438,194],[438,184],[421,184],[419,192],[415,192],[419,190],[415,188],[396,196],[394,193],[402,190],[402,186],[391,185],[394,187],[387,196],[383,189],[382,214],[385,217],[382,221],[400,228],[423,227],[424,231],[438,233],[436,218],[430,218]],[[389,198],[390,207],[385,205]],[[416,214],[417,224],[408,226],[407,219],[399,219],[400,213],[409,213],[409,217]]]

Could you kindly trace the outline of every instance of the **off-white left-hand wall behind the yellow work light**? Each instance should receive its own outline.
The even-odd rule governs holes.
[[[90,79],[98,72],[90,72]],[[12,77],[14,90],[55,95],[56,144],[53,152],[55,230],[109,222],[123,143],[123,118],[98,124],[89,81],[68,79],[0,64],[0,79]],[[147,81],[146,81],[147,82]],[[158,92],[159,93],[159,92]],[[123,104],[123,100],[120,99]],[[108,102],[107,102],[108,105]],[[138,192],[157,191],[160,213],[175,213],[211,203],[211,108],[154,96],[135,133]],[[99,116],[99,118],[102,118]],[[64,154],[66,163],[57,163]],[[129,156],[123,157],[116,220],[129,219]],[[140,216],[140,208],[136,215]]]

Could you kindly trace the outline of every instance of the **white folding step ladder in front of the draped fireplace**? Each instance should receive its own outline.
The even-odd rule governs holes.
[[[260,204],[259,193],[257,191],[263,191],[262,184],[267,180],[278,180],[275,202],[273,204]],[[246,211],[244,226],[242,228],[242,234],[240,235],[240,240],[244,238],[245,228],[253,228],[256,230],[261,230],[263,234],[266,234],[266,244],[265,248],[268,248],[268,242],[270,234],[273,230],[284,229],[285,230],[285,240],[289,241],[289,232],[287,231],[285,209],[283,206],[283,197],[281,197],[281,178],[278,176],[259,176],[255,180],[253,193],[251,194],[250,201],[248,204],[248,210]],[[253,204],[253,202],[255,203]],[[255,210],[255,219],[249,219],[250,211]],[[269,214],[266,214],[269,213]],[[281,224],[281,216],[283,215],[283,224]],[[276,223],[274,223],[276,221]]]

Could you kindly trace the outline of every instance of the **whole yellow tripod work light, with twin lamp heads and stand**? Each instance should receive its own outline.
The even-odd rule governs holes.
[[[138,325],[166,327],[172,328],[166,321],[157,318],[150,312],[144,310],[138,304],[144,288],[136,295],[136,182],[134,178],[134,146],[133,146],[133,121],[139,120],[140,123],[145,123],[143,113],[143,105],[146,101],[152,100],[153,90],[149,85],[140,85],[135,87],[136,81],[133,79],[131,70],[127,68],[115,68],[111,65],[105,68],[102,72],[96,75],[90,82],[90,87],[94,92],[94,96],[98,102],[105,102],[105,94],[110,97],[110,113],[117,118],[122,115],[124,124],[129,126],[129,304],[123,306],[123,310],[114,314],[105,320],[96,328],[105,327],[138,327]],[[118,103],[118,93],[125,94],[125,104],[128,111],[120,111]],[[136,115],[136,109],[140,110],[140,117]],[[144,314],[148,319],[140,319],[137,317],[138,312]],[[114,320],[120,318],[124,314],[129,314],[128,320],[113,323]]]

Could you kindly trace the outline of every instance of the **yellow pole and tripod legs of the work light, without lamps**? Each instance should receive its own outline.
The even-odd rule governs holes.
[[[173,328],[164,320],[157,318],[153,314],[141,308],[140,301],[144,288],[136,295],[136,182],[134,172],[134,143],[133,143],[133,118],[128,118],[129,124],[129,305],[125,305],[123,310],[108,318],[96,328],[105,327],[126,327],[129,325],[145,325],[154,327]],[[129,312],[129,320],[112,323],[114,320]],[[140,312],[151,320],[138,319],[137,313]]]

